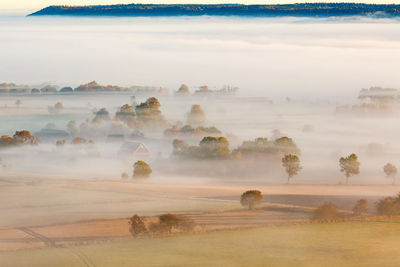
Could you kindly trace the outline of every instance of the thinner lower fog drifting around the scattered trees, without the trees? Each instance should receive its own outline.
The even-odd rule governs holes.
[[[76,121],[79,129],[85,120],[92,120],[93,110],[105,107],[111,119],[117,109],[130,103],[127,93],[87,93],[72,95],[19,95],[3,96],[0,99],[1,133],[12,136],[16,130],[26,129],[39,138],[37,146],[24,146],[2,149],[1,158],[5,165],[3,177],[7,175],[32,175],[56,178],[74,179],[106,179],[121,180],[121,173],[129,176],[133,172],[133,163],[143,159],[151,164],[153,169],[150,183],[210,183],[235,184],[280,184],[286,182],[286,174],[279,161],[271,161],[268,170],[253,170],[242,175],[228,177],[219,172],[205,174],[199,171],[200,165],[209,166],[210,161],[193,159],[192,161],[174,160],[172,141],[176,138],[186,140],[191,145],[198,145],[202,136],[172,136],[163,134],[164,129],[175,124],[186,124],[187,113],[193,104],[200,104],[205,112],[204,126],[215,126],[230,142],[230,149],[238,148],[243,141],[266,137],[275,140],[288,136],[294,140],[301,150],[299,175],[293,178],[295,184],[338,184],[344,182],[344,175],[339,171],[338,160],[342,156],[356,153],[361,162],[360,175],[351,177],[354,184],[390,184],[385,179],[383,165],[387,162],[398,162],[400,143],[398,141],[399,113],[397,105],[390,114],[358,114],[355,112],[338,113],[336,105],[328,102],[291,101],[283,102],[270,99],[243,96],[225,97],[179,97],[157,95],[161,103],[161,112],[169,126],[154,130],[143,130],[143,138],[130,136],[136,130],[126,125],[116,127],[115,122],[101,122],[93,128],[93,134],[80,131],[77,136],[95,142],[89,145],[73,145],[72,137],[49,138],[40,136],[40,130],[53,123],[54,128],[68,131],[69,121]],[[138,103],[144,102],[149,96],[139,95]],[[20,99],[20,107],[15,101]],[[60,114],[50,114],[48,106],[61,101],[64,110]],[[349,98],[346,103],[358,103],[357,98]],[[308,130],[304,130],[308,125]],[[274,133],[275,130],[280,133]],[[95,134],[94,134],[95,133]],[[121,140],[109,140],[112,134],[124,134]],[[209,134],[208,134],[209,135]],[[55,142],[66,139],[63,147],[57,147]],[[118,153],[125,141],[141,142],[146,145],[150,155],[145,158],[121,158]],[[218,160],[216,166],[218,166]],[[268,164],[268,160],[261,160]],[[192,173],[179,169],[190,164]],[[224,163],[225,164],[225,163]],[[224,164],[220,166],[225,166]],[[264,163],[262,163],[264,164]],[[91,167],[89,167],[91,166]],[[94,167],[95,166],[95,167]],[[196,166],[196,167],[195,167]],[[211,167],[210,167],[211,166]],[[171,168],[178,168],[171,171]],[[197,168],[197,169],[196,169]],[[216,167],[218,168],[218,167]],[[226,168],[221,167],[221,168]],[[190,168],[189,168],[190,169]],[[254,173],[255,172],[255,173]],[[188,178],[188,174],[189,178]],[[229,172],[228,172],[229,174]]]

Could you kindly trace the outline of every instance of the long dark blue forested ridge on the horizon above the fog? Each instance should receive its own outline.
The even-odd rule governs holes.
[[[400,5],[374,5],[355,3],[310,3],[287,5],[99,5],[49,6],[29,16],[379,16],[400,15]]]

